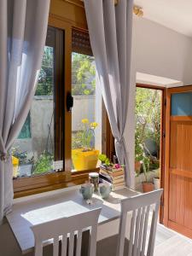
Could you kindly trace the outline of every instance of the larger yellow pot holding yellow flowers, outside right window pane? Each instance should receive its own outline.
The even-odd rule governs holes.
[[[99,150],[83,151],[83,148],[72,149],[73,166],[77,171],[96,168]]]

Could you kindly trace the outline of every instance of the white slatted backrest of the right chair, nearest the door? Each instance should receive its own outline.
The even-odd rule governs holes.
[[[158,189],[121,201],[121,218],[119,224],[117,256],[124,255],[127,212],[132,212],[127,256],[144,256],[146,249],[147,256],[154,255],[154,240],[156,235],[158,213],[160,208],[160,197],[162,192],[163,189]],[[151,223],[148,223],[150,210],[152,210],[152,221]],[[147,244],[146,241],[148,225],[149,238]]]

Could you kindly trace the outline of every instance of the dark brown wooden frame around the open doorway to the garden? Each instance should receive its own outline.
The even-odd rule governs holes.
[[[137,83],[136,87],[161,90],[161,114],[160,114],[160,188],[164,189],[165,186],[165,148],[166,148],[166,87],[154,84],[140,84]],[[160,224],[164,220],[164,196],[161,197],[160,202]]]

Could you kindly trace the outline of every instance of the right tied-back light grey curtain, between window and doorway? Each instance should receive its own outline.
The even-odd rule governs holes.
[[[102,97],[115,138],[119,164],[125,164],[126,184],[134,187],[134,173],[125,148],[125,124],[131,88],[133,0],[84,0],[90,44]],[[128,142],[129,143],[129,142]]]

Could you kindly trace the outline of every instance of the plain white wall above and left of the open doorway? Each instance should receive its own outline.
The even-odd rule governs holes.
[[[148,73],[192,84],[192,38],[153,21],[133,18],[131,91],[125,142],[134,168],[136,73]]]

